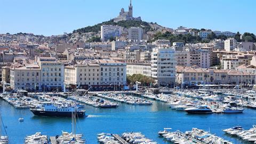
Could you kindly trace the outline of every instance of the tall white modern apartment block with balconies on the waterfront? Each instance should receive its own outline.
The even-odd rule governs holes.
[[[158,85],[174,85],[176,64],[174,49],[155,47],[151,53],[151,76]]]

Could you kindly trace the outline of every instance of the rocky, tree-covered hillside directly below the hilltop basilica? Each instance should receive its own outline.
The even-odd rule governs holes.
[[[94,26],[88,26],[88,27],[74,30],[73,33],[71,33],[71,35],[69,36],[69,43],[74,43],[77,41],[87,42],[87,41],[90,41],[90,39],[93,37],[100,37],[100,27],[102,25],[121,26],[124,28],[124,31],[130,27],[141,27],[145,31],[145,33],[154,33],[155,31],[163,31],[163,30],[169,29],[153,22],[145,22],[145,21],[114,22],[113,20],[110,20],[110,21],[98,23],[97,25],[94,25]]]

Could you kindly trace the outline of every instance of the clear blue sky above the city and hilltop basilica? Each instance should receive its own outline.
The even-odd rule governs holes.
[[[117,17],[130,0],[0,0],[0,34],[59,35]],[[169,28],[256,34],[255,0],[132,0],[133,16]]]

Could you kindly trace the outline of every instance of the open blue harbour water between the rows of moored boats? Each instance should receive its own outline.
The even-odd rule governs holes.
[[[164,127],[183,132],[197,127],[210,130],[211,133],[234,143],[243,143],[221,130],[235,125],[250,129],[256,123],[256,110],[252,109],[245,109],[242,114],[191,115],[172,110],[159,101],[154,101],[151,106],[118,104],[117,108],[104,109],[85,106],[88,116],[77,119],[77,133],[84,135],[86,143],[98,143],[97,134],[101,132],[121,134],[131,131],[142,132],[158,143],[167,143],[157,134]],[[34,116],[29,109],[15,109],[3,100],[0,100],[0,105],[10,143],[23,143],[26,135],[36,132],[55,136],[60,135],[61,131],[71,131],[71,118]],[[18,121],[20,117],[24,118],[24,122]]]

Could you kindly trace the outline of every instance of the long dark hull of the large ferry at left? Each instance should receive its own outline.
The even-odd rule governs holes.
[[[36,109],[30,109],[34,115],[37,116],[57,116],[57,117],[71,117],[72,112],[71,111],[42,111],[42,110],[36,110]],[[78,117],[84,117],[85,111],[77,111],[76,115]]]

